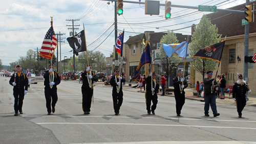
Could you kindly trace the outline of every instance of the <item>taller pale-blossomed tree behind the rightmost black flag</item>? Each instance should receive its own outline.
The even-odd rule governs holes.
[[[206,15],[203,15],[202,19],[200,20],[199,24],[195,26],[195,32],[192,35],[190,46],[190,57],[193,60],[191,62],[191,67],[195,68],[197,72],[204,75],[209,70],[215,70],[217,68],[217,61],[204,59],[200,57],[193,58],[193,55],[196,52],[206,46],[215,44],[220,42],[221,40],[220,34],[218,34],[218,28],[216,25],[211,24],[209,18]]]

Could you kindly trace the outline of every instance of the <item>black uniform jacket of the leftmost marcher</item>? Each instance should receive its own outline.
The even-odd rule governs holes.
[[[14,82],[14,74],[12,75],[9,83],[12,85],[13,82]],[[24,89],[25,87],[25,90],[28,91],[29,80],[26,74],[24,74],[23,72],[19,76],[16,73],[15,83],[16,85],[13,87],[13,90]]]

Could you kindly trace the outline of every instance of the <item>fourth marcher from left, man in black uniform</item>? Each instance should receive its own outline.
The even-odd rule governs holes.
[[[119,114],[119,109],[123,103],[122,82],[125,82],[125,79],[120,75],[120,69],[116,68],[115,75],[110,79],[110,84],[113,86],[112,97],[115,115]]]

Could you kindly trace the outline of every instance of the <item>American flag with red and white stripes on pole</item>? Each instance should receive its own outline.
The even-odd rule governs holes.
[[[53,27],[51,26],[46,33],[44,41],[42,42],[42,47],[39,55],[41,55],[42,57],[46,57],[47,59],[51,59],[56,47],[57,39]]]

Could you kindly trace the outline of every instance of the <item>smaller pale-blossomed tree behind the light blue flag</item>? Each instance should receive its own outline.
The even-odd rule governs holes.
[[[168,76],[171,75],[174,72],[174,70],[176,70],[180,62],[180,59],[177,54],[173,54],[172,58],[170,59],[164,52],[162,44],[172,44],[172,43],[178,43],[178,42],[179,41],[176,37],[176,34],[173,31],[172,32],[167,31],[167,35],[164,35],[160,40],[160,43],[161,43],[160,54],[159,54],[160,66]]]

